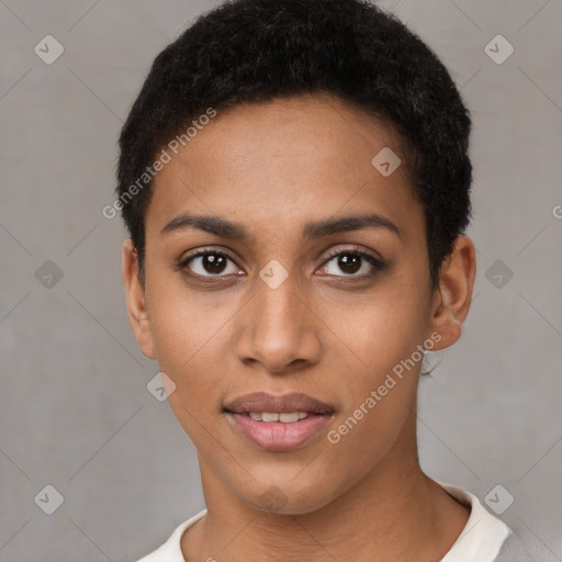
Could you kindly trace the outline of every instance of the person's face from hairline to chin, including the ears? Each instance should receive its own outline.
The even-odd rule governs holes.
[[[316,95],[218,112],[156,177],[128,308],[204,486],[306,513],[414,454],[422,346],[458,337],[472,272],[431,291],[405,168],[387,126]]]

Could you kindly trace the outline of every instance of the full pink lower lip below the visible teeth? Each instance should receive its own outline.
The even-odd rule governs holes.
[[[244,414],[227,412],[234,425],[254,443],[267,451],[289,451],[303,445],[330,420],[331,414],[305,417],[299,422],[257,422]]]

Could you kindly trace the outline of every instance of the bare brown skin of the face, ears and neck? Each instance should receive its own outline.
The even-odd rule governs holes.
[[[387,178],[371,165],[386,146],[403,158]],[[404,158],[387,124],[315,94],[220,112],[158,173],[145,283],[131,240],[123,277],[138,346],[176,384],[168,401],[198,450],[209,514],[184,532],[186,560],[435,562],[464,528],[469,509],[419,467],[420,361],[338,443],[326,438],[431,334],[434,350],[454,344],[469,312],[474,244],[456,240],[431,290],[425,216]],[[161,234],[186,212],[240,223],[250,238]],[[301,238],[307,222],[364,213],[402,236],[366,227]],[[328,258],[358,247],[386,266],[362,259],[344,270]],[[178,269],[200,248],[234,261]],[[259,277],[271,260],[289,273],[277,289]],[[303,392],[335,414],[306,446],[265,451],[223,413],[257,391]]]

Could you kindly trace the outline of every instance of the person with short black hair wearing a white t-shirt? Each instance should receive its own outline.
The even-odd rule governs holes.
[[[527,560],[419,465],[424,358],[469,313],[470,112],[364,0],[234,0],[154,60],[120,136],[132,329],[206,508],[142,562]]]

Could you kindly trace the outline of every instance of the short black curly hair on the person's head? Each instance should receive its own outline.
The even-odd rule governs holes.
[[[156,57],[119,140],[119,209],[140,271],[151,181],[145,175],[139,189],[138,179],[162,147],[210,108],[307,93],[330,93],[397,131],[438,285],[471,218],[470,113],[435,53],[367,0],[229,0]]]

